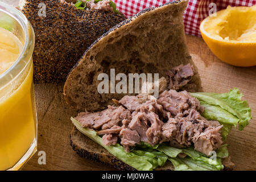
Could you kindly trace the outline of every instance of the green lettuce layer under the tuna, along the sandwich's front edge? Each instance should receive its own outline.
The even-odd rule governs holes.
[[[151,171],[156,167],[164,166],[167,159],[174,164],[175,170],[179,171],[223,169],[220,158],[217,158],[216,160],[210,159],[209,156],[205,156],[204,154],[195,151],[192,147],[180,149],[165,144],[159,144],[152,147],[150,144],[142,142],[137,145],[133,151],[126,153],[125,149],[120,144],[105,146],[102,138],[97,135],[96,131],[81,127],[80,123],[74,118],[71,118],[71,120],[82,134],[100,144],[108,150],[110,154],[114,155],[119,160],[122,160],[122,162],[140,171]],[[228,155],[226,152],[226,145],[222,146],[217,151],[217,156],[225,157]],[[180,153],[187,154],[187,156],[184,159],[179,158],[178,155]]]

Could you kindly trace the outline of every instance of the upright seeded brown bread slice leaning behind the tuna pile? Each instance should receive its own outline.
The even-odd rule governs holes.
[[[187,1],[174,1],[158,8],[141,11],[119,23],[90,46],[69,74],[64,86],[64,98],[77,110],[97,111],[112,105],[125,94],[100,94],[97,80],[100,73],[159,73],[190,63],[192,80],[185,86],[188,92],[201,90],[197,68],[189,55],[183,24]]]

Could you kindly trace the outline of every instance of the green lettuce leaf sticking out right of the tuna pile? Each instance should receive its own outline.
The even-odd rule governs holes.
[[[238,88],[222,94],[205,92],[190,94],[205,107],[202,114],[205,118],[235,127],[238,125],[240,130],[249,125],[251,109],[247,101],[242,101],[243,95]]]

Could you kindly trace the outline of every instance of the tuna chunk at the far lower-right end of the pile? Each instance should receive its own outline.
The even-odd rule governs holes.
[[[194,140],[195,150],[209,155],[210,151],[214,151],[221,147],[221,126],[209,126],[203,133],[199,134]]]

